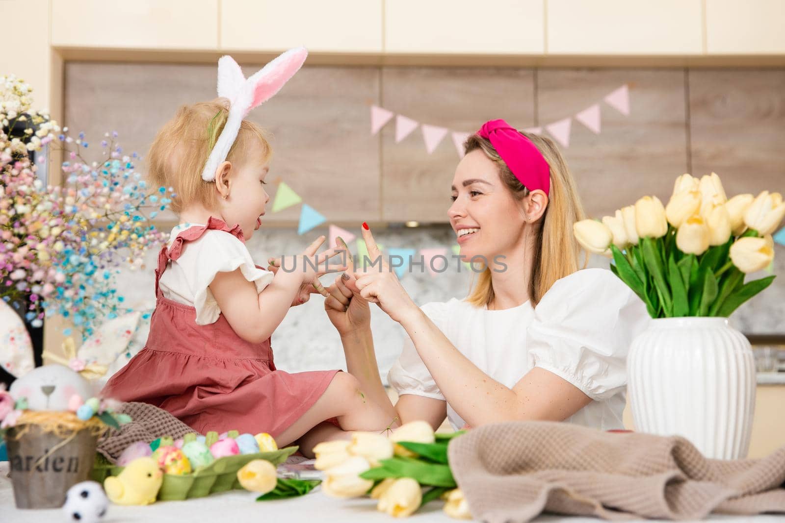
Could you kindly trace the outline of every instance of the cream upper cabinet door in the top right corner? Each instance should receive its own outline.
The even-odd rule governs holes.
[[[785,2],[711,0],[706,2],[709,54],[785,53]]]

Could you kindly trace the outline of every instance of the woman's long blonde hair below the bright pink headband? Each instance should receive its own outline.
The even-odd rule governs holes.
[[[572,234],[572,224],[583,219],[583,206],[572,179],[567,162],[550,139],[545,136],[520,132],[535,144],[550,166],[550,194],[542,218],[535,224],[535,247],[531,252],[533,264],[529,275],[529,299],[536,306],[548,289],[560,278],[579,269],[580,246]],[[509,170],[489,140],[473,134],[464,143],[468,154],[480,149],[498,166],[499,178],[513,198],[521,200],[529,190]],[[491,269],[486,267],[477,278],[472,292],[466,299],[476,307],[483,307],[494,298]]]

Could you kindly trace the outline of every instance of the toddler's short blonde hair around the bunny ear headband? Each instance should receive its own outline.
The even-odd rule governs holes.
[[[183,105],[162,127],[148,153],[148,178],[153,187],[173,187],[170,208],[178,214],[193,203],[216,208],[213,181],[202,180],[202,170],[228,118],[228,100]],[[226,159],[243,165],[248,152],[257,147],[265,162],[272,155],[267,134],[258,125],[243,120],[237,139]]]

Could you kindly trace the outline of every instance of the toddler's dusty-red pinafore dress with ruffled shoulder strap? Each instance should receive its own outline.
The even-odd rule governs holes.
[[[190,227],[159,254],[155,271],[155,311],[144,349],[111,377],[104,396],[144,401],[166,409],[201,434],[239,430],[267,432],[276,438],[311,408],[338,370],[290,374],[276,369],[270,339],[243,340],[221,314],[197,325],[196,311],[165,298],[159,280],[169,260],[177,260],[185,242],[210,230],[234,234],[239,225],[210,218],[206,227]]]

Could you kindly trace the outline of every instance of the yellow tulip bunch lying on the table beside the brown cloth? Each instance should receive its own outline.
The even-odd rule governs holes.
[[[314,467],[324,472],[322,491],[327,496],[370,496],[378,500],[378,510],[396,518],[444,499],[447,515],[470,519],[447,463],[447,445],[460,434],[434,434],[425,421],[406,423],[389,436],[354,432],[350,441],[316,445]]]

